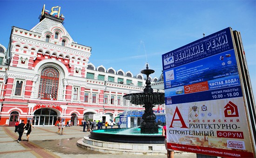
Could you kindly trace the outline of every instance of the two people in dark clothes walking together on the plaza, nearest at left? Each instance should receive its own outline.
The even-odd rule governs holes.
[[[30,120],[27,120],[27,124],[24,124],[23,119],[21,120],[21,123],[19,123],[19,121],[17,120],[17,122],[15,123],[15,131],[14,132],[19,133],[19,138],[17,140],[18,143],[20,143],[23,133],[26,133],[27,141],[29,140],[29,135],[32,131],[32,127],[34,128],[32,123],[30,122]],[[25,131],[24,131],[24,129],[25,129]]]

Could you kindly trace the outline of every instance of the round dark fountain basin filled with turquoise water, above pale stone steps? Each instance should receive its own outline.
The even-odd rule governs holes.
[[[112,128],[94,130],[90,132],[89,138],[106,142],[117,143],[137,143],[137,144],[164,144],[162,131],[156,134],[141,134],[139,128],[136,132],[122,134],[122,131],[127,131],[127,128]],[[118,134],[120,133],[120,134]]]

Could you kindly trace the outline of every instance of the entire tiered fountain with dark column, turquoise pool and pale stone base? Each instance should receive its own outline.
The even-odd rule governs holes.
[[[84,137],[83,142],[79,143],[78,141],[77,145],[95,151],[101,149],[103,152],[106,152],[105,150],[108,150],[107,152],[110,153],[133,152],[134,154],[139,154],[146,152],[147,154],[165,154],[162,129],[155,122],[156,117],[152,110],[154,105],[164,104],[164,93],[153,92],[150,86],[151,82],[148,76],[154,72],[154,70],[148,69],[147,64],[146,69],[141,71],[141,73],[147,75],[144,91],[123,96],[124,99],[130,100],[130,103],[143,105],[145,108],[141,126],[133,129],[113,128],[94,130],[88,137]],[[112,148],[109,148],[109,146]]]

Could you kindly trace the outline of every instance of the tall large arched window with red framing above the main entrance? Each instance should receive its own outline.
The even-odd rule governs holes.
[[[58,96],[59,72],[53,67],[46,67],[41,72],[38,98],[56,100]]]

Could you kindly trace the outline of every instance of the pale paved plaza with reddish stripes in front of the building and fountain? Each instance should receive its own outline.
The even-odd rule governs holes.
[[[89,135],[81,126],[66,127],[64,135],[56,133],[56,126],[32,128],[29,142],[26,134],[17,143],[14,127],[0,127],[0,158],[130,158],[133,155],[108,154],[78,147],[76,142]],[[166,155],[135,155],[136,158],[166,158]],[[194,153],[175,153],[175,158],[196,158]]]

